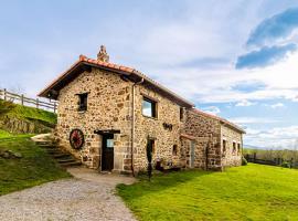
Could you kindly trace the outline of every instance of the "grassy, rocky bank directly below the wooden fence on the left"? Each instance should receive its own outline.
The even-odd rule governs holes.
[[[54,113],[0,101],[0,137],[49,133],[55,124]]]

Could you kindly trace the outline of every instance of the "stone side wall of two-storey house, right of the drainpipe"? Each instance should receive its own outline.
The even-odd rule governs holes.
[[[142,115],[143,97],[157,102],[157,117]],[[135,168],[136,171],[147,168],[146,145],[148,137],[155,139],[152,161],[166,161],[166,164],[180,165],[180,133],[183,123],[180,122],[180,106],[160,94],[138,85],[136,88],[136,135],[135,135]],[[163,123],[172,125],[172,129],[164,128]],[[177,155],[173,155],[173,146],[177,145]]]

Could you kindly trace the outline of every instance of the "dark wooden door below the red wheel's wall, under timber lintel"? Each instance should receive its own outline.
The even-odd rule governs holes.
[[[103,135],[102,170],[114,169],[114,135]]]

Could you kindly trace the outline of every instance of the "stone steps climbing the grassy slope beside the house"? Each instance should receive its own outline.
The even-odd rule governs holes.
[[[77,167],[82,162],[77,160],[72,154],[61,149],[51,139],[34,139],[34,143],[44,148],[62,167]]]

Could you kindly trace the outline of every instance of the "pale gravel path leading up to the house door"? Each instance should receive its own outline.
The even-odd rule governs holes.
[[[70,169],[70,172],[76,178],[0,197],[0,220],[135,220],[121,199],[115,196],[115,186],[131,183],[132,178],[99,175],[85,168]]]

